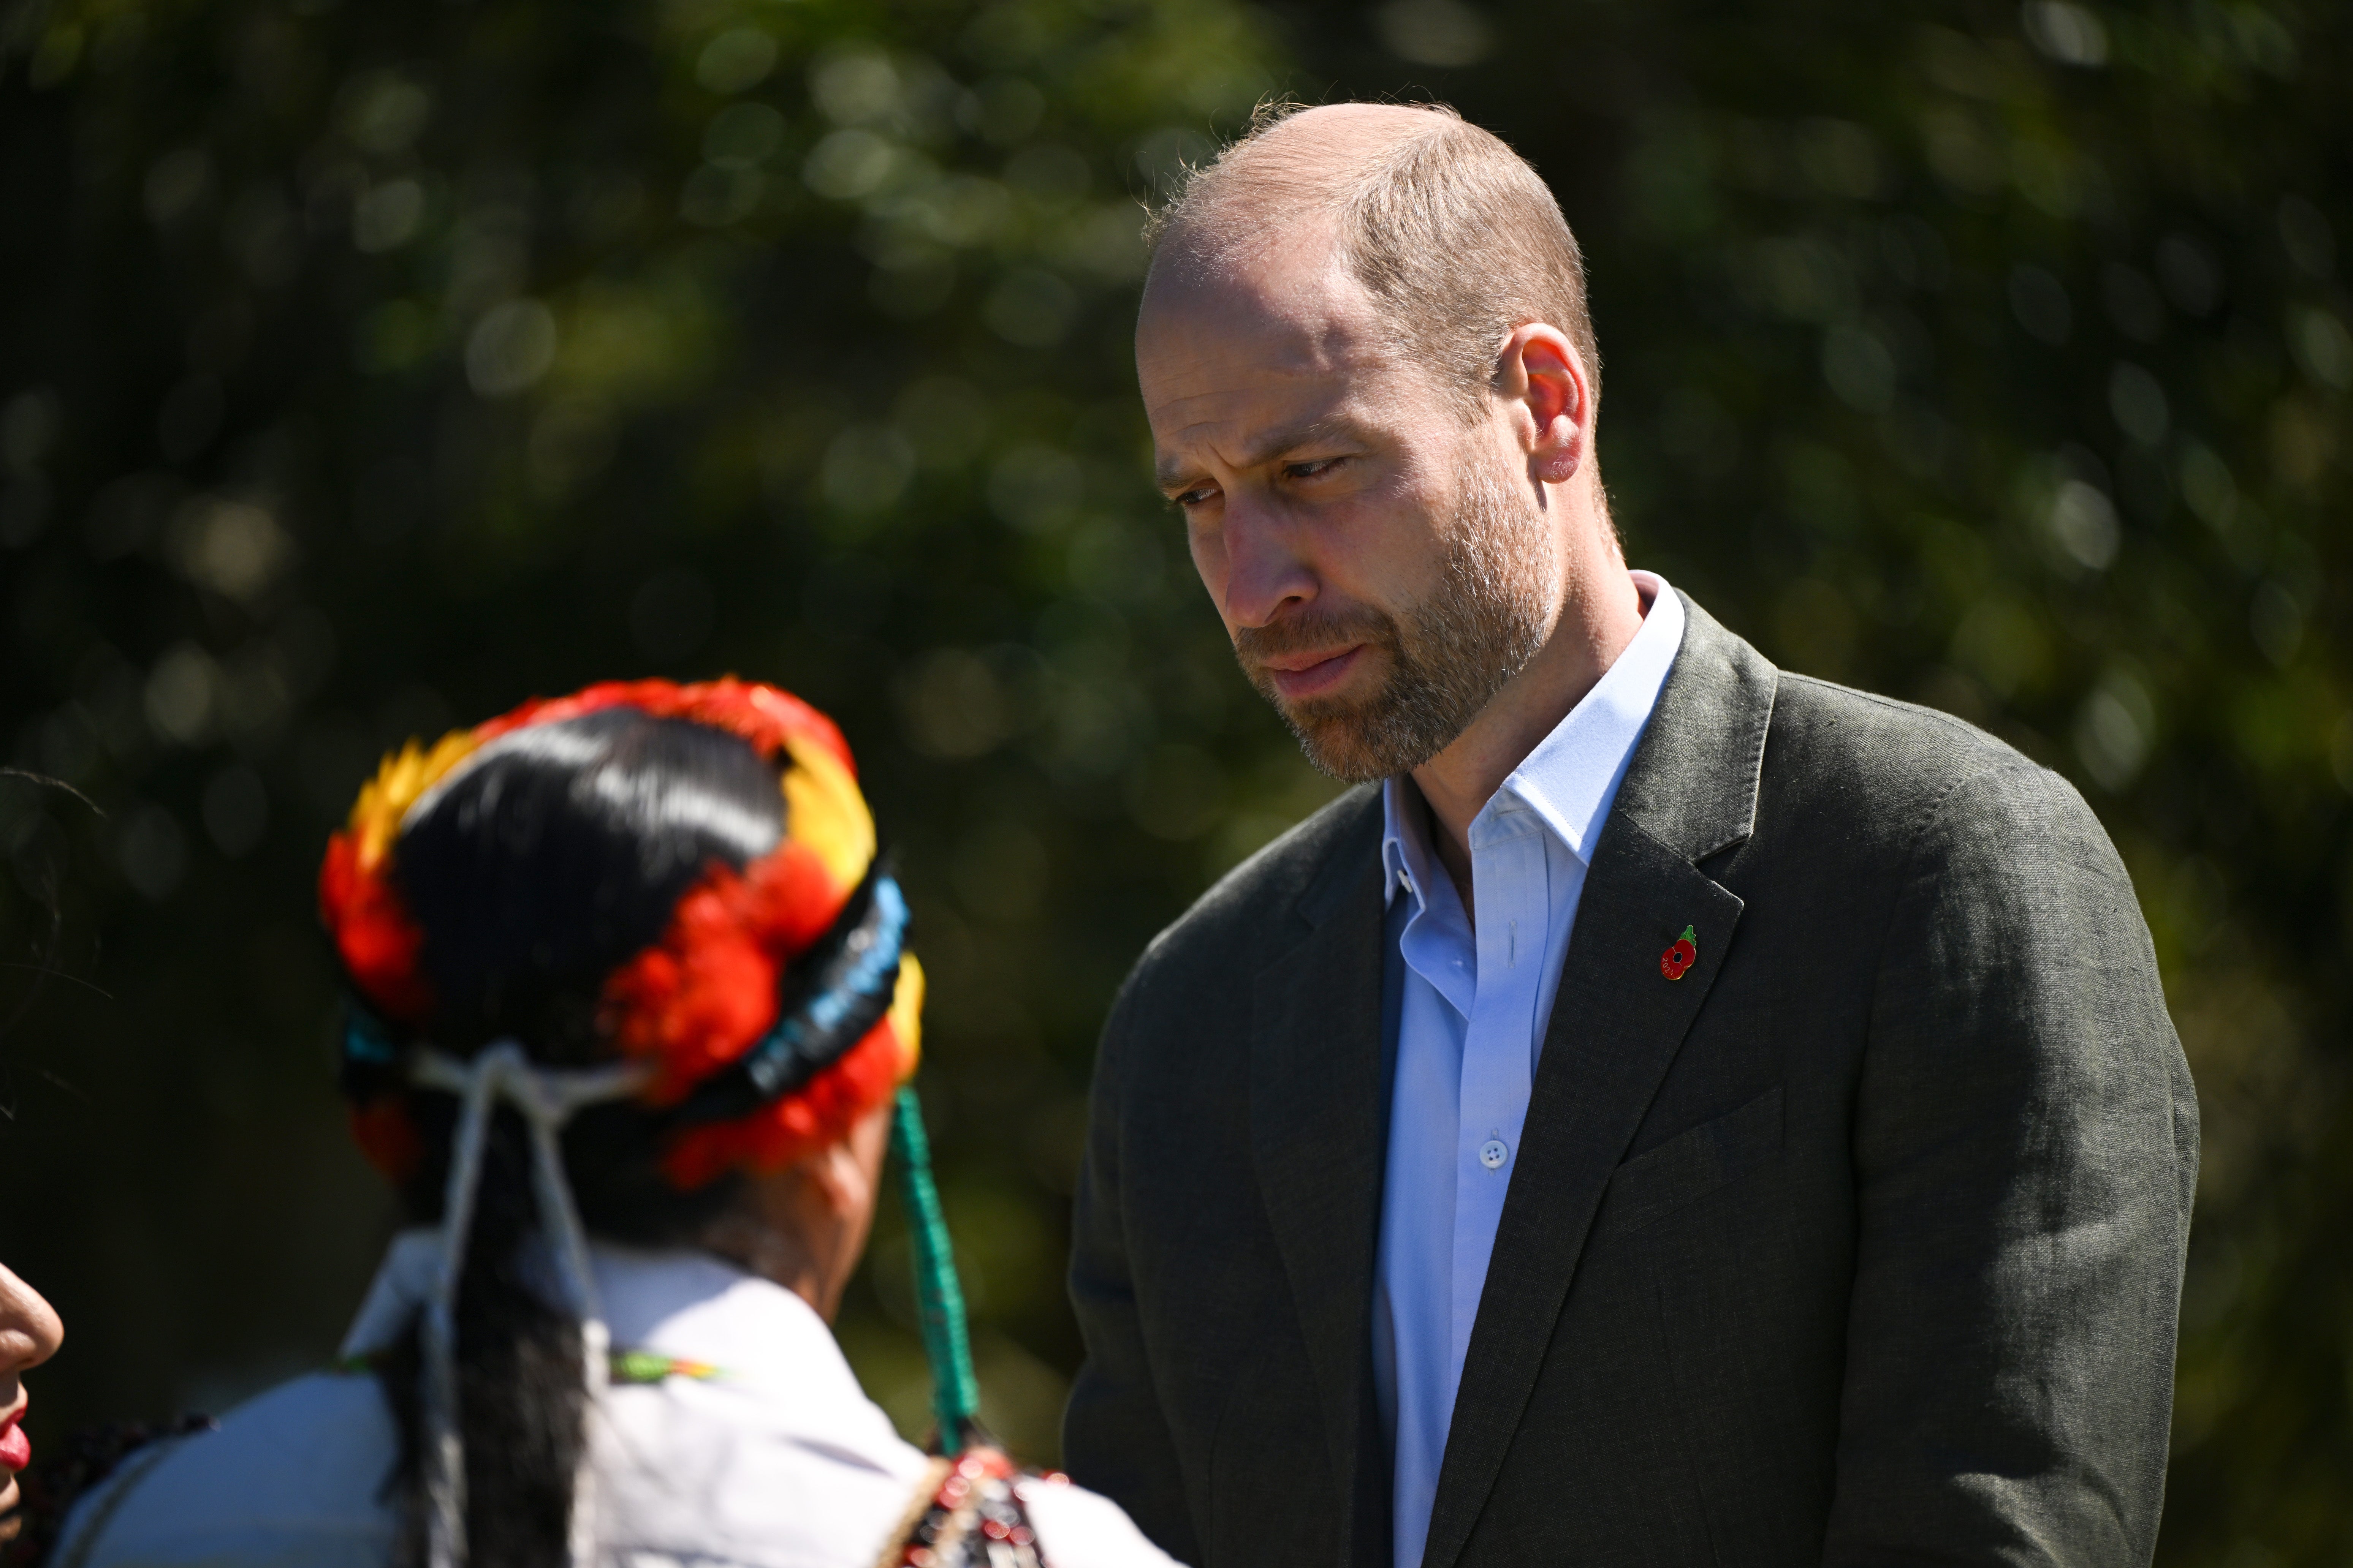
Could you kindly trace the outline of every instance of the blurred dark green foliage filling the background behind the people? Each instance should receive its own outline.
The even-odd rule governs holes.
[[[0,778],[35,1439],[322,1359],[372,1267],[308,879],[374,755],[739,670],[901,846],[991,1415],[1052,1458],[1104,1004],[1329,792],[1144,482],[1139,197],[1266,92],[1435,94],[1586,242],[1633,559],[2118,837],[2207,1117],[2162,1561],[2353,1547],[2341,7],[0,16],[0,755],[92,802]],[[842,1338],[920,1422],[889,1218]]]

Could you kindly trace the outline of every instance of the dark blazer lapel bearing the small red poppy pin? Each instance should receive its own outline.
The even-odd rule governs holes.
[[[1520,1164],[1464,1359],[1424,1568],[1454,1568],[1520,1427],[1602,1187],[1708,999],[1741,900],[1697,860],[1748,837],[1777,672],[1685,599],[1685,639],[1600,832]],[[1689,929],[1680,980],[1661,957]]]

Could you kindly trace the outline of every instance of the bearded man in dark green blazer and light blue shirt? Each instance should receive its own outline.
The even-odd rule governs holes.
[[[1136,343],[1367,788],[1113,1009],[1073,1476],[1219,1568],[2146,1563],[2198,1112],[2075,790],[1626,571],[1574,240],[1442,110],[1257,127]]]

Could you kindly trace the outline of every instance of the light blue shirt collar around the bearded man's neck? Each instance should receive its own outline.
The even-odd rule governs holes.
[[[1579,860],[1591,858],[1593,837],[1609,813],[1609,802],[1617,799],[1633,748],[1682,649],[1682,599],[1675,590],[1654,571],[1626,576],[1647,602],[1642,630],[1480,809],[1480,818],[1492,820],[1525,806]],[[1421,792],[1412,788],[1409,776],[1388,778],[1381,785],[1381,900],[1393,903],[1398,889],[1405,889],[1414,896],[1417,910],[1426,907],[1421,889],[1431,886],[1431,867],[1428,809],[1421,804]]]

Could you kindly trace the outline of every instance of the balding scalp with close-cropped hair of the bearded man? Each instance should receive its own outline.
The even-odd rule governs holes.
[[[1252,287],[1280,252],[1334,256],[1372,296],[1386,346],[1475,416],[1513,327],[1574,343],[1593,395],[1600,350],[1577,237],[1537,172],[1442,106],[1327,103],[1261,113],[1148,230],[1144,308]]]

